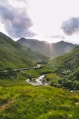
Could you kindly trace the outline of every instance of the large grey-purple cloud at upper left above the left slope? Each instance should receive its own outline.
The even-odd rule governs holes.
[[[14,8],[7,0],[5,4],[0,1],[0,21],[4,24],[7,33],[14,37],[29,37],[34,33],[30,31],[32,21],[25,8]]]

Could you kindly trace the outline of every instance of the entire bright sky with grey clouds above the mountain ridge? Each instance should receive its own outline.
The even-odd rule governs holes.
[[[0,0],[0,32],[79,44],[79,0]]]

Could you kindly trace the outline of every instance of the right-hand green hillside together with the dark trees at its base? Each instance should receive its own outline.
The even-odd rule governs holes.
[[[79,90],[79,46],[48,63],[60,77],[57,85]],[[56,86],[57,86],[56,85]]]

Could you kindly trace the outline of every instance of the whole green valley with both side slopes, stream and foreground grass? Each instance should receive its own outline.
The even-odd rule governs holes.
[[[50,59],[0,33],[0,119],[79,119],[78,90],[79,46]]]

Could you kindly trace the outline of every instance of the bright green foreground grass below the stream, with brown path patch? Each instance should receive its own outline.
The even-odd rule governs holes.
[[[0,80],[0,119],[79,119],[78,112],[78,92]]]

